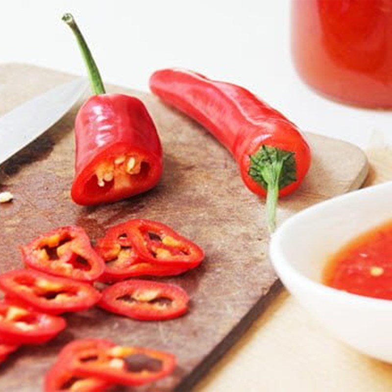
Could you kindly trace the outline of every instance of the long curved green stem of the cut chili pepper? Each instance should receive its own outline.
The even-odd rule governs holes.
[[[91,88],[94,94],[105,94],[105,87],[103,86],[102,78],[99,74],[97,64],[95,63],[93,55],[91,54],[91,51],[87,46],[87,43],[82,33],[80,32],[79,27],[76,25],[73,16],[71,14],[64,14],[61,19],[71,27],[71,30],[76,37],[77,44],[79,45],[79,49],[82,53],[83,60],[87,67]]]

